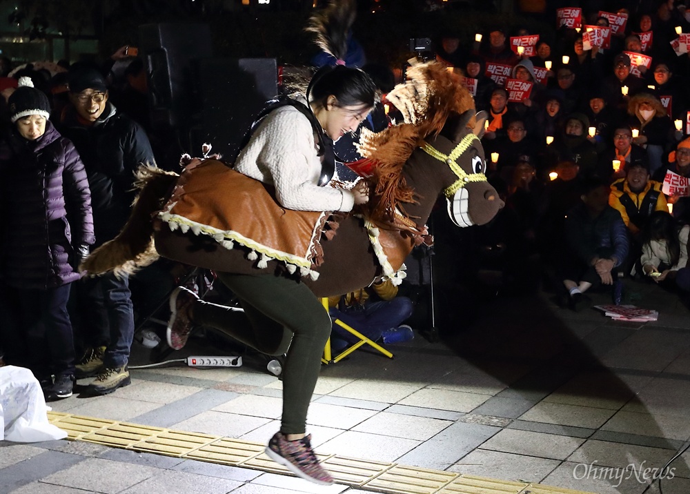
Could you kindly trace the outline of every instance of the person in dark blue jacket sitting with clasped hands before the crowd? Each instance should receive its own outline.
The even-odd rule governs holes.
[[[618,270],[628,255],[629,242],[620,213],[609,206],[610,190],[607,181],[589,177],[584,181],[582,201],[565,220],[566,254],[560,273],[573,310],[589,306],[584,293],[600,284],[613,286],[613,302],[620,304]]]

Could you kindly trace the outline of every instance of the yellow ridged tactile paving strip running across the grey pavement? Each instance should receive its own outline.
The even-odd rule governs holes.
[[[72,441],[292,475],[264,454],[264,444],[242,439],[70,413],[48,412],[48,420],[66,431]],[[339,484],[384,494],[592,494],[337,455],[317,454],[317,457]]]

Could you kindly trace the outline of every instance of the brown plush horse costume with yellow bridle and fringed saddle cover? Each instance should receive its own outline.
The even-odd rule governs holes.
[[[400,282],[404,258],[428,237],[424,225],[437,197],[446,196],[458,226],[486,224],[503,206],[484,175],[484,120],[475,117],[469,92],[433,63],[409,72],[416,79],[389,97],[410,123],[362,136],[374,186],[366,207],[347,215],[284,210],[270,186],[216,159],[193,160],[180,176],[142,168],[128,224],[83,269],[117,273],[161,255],[226,273],[302,275],[318,297],[377,277]]]

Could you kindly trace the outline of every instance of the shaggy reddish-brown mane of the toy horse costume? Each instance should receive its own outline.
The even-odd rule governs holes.
[[[388,93],[388,101],[402,112],[405,123],[382,132],[362,132],[358,150],[375,162],[372,180],[375,197],[369,214],[374,220],[391,221],[400,203],[415,202],[414,190],[402,177],[402,168],[424,139],[437,136],[453,115],[474,109],[474,99],[462,78],[435,61],[407,70],[407,81]],[[475,118],[468,122],[473,128]]]

